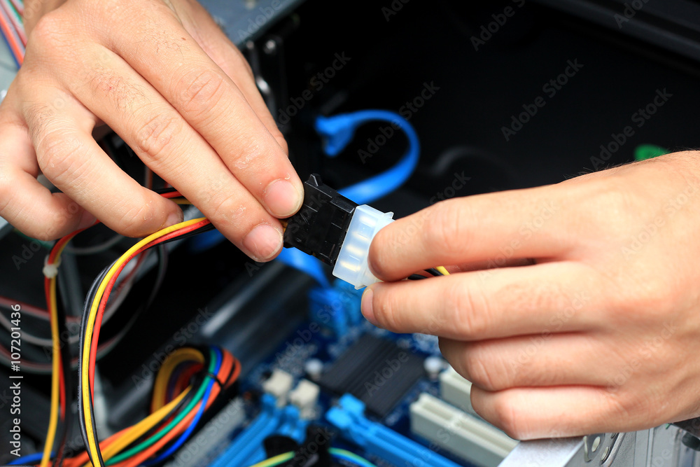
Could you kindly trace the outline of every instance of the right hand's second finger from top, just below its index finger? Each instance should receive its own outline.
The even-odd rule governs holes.
[[[600,288],[586,266],[556,261],[372,284],[362,312],[394,333],[454,340],[553,334],[595,326],[606,309],[591,292]]]

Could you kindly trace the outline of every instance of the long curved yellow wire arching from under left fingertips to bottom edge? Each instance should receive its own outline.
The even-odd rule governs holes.
[[[90,307],[90,312],[87,315],[87,328],[85,332],[85,342],[83,345],[83,365],[82,368],[80,368],[80,375],[83,378],[83,384],[82,384],[82,396],[83,396],[83,417],[85,417],[85,428],[87,431],[87,449],[90,452],[90,456],[92,456],[92,459],[97,462],[97,435],[92,431],[92,417],[90,417],[90,410],[88,410],[88,407],[90,407],[90,382],[89,382],[89,368],[90,368],[90,339],[92,338],[92,333],[94,331],[94,322],[97,316],[97,309],[99,308],[99,302],[102,299],[102,294],[104,293],[104,289],[107,287],[107,284],[109,284],[109,281],[112,279],[114,274],[116,274],[116,271],[119,269],[121,265],[123,265],[127,258],[129,258],[134,252],[138,251],[141,246],[144,246],[148,244],[149,242],[153,242],[153,240],[158,239],[162,237],[163,235],[167,235],[170,232],[174,232],[176,230],[180,230],[181,228],[186,228],[189,227],[190,225],[194,225],[196,223],[199,223],[201,221],[204,221],[205,218],[196,218],[192,219],[191,221],[185,221],[181,222],[179,224],[171,225],[170,227],[167,227],[162,230],[158,230],[158,232],[155,232],[151,235],[148,235],[148,237],[140,240],[137,242],[137,244],[134,244],[130,249],[126,251],[116,262],[112,265],[112,267],[109,269],[107,274],[105,275],[104,279],[102,279],[102,283],[99,284],[99,288],[97,288],[97,293],[94,295],[94,300],[92,300],[92,306]]]

